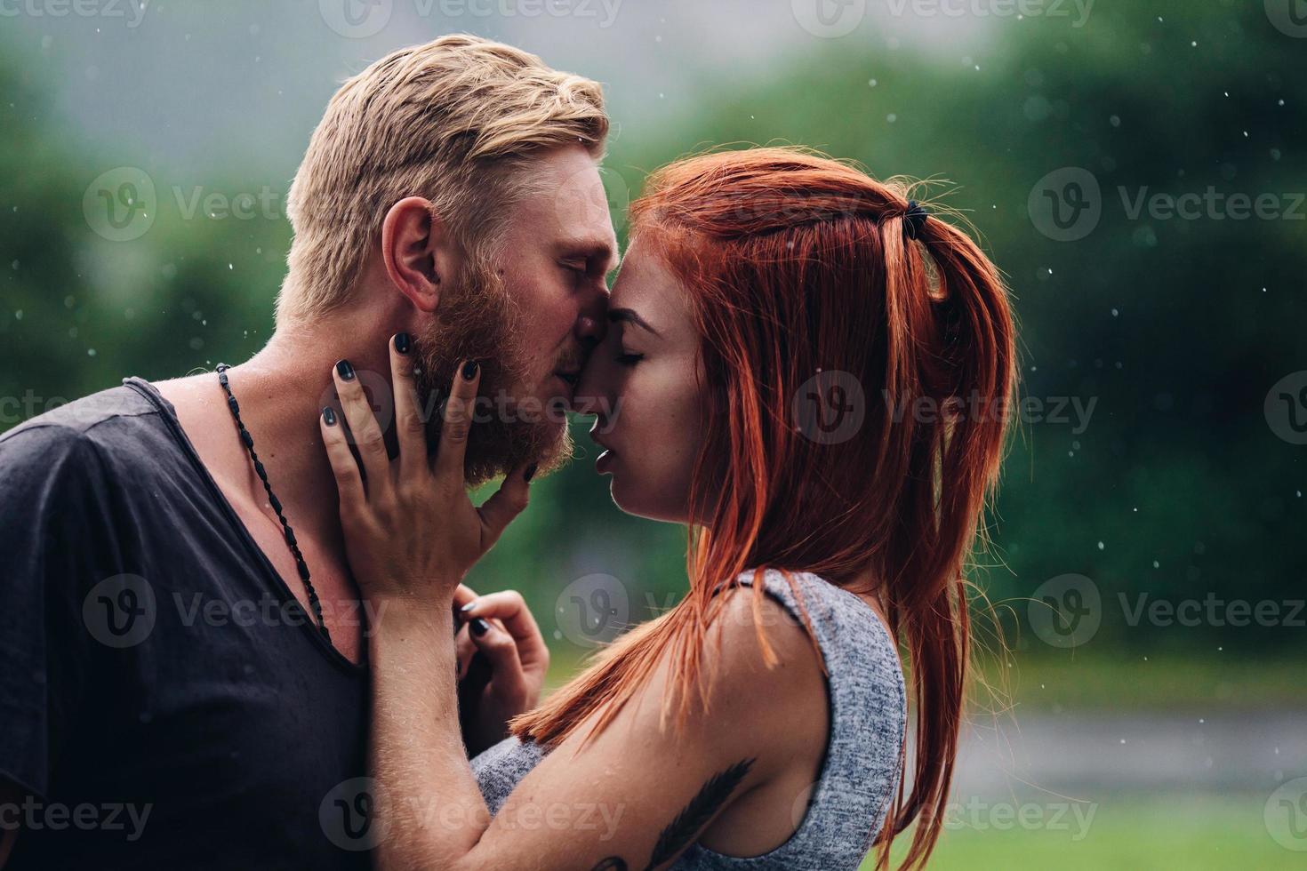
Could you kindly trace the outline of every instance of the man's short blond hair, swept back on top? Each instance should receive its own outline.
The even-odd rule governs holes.
[[[403,48],[332,97],[286,197],[294,230],[277,320],[349,296],[387,210],[430,200],[459,242],[485,253],[532,155],[608,136],[600,85],[467,34]]]

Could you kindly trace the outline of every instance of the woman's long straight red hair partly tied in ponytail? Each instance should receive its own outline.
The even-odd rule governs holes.
[[[664,710],[684,722],[706,697],[718,586],[746,569],[838,585],[870,569],[915,712],[912,764],[901,761],[877,866],[918,820],[911,868],[933,850],[948,802],[971,639],[963,571],[997,482],[1017,368],[997,268],[937,217],[908,226],[907,193],[784,148],[694,157],[651,178],[631,234],[684,283],[703,337],[690,589],[512,731],[554,747],[597,713],[595,734],[668,657],[676,699]],[[805,407],[823,396],[853,414],[860,402],[860,427],[812,430]],[[761,609],[761,584],[753,601]]]

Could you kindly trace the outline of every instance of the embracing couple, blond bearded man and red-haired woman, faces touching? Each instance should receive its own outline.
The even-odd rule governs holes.
[[[912,823],[928,859],[1005,440],[951,401],[1016,389],[999,269],[797,148],[656,171],[618,259],[608,129],[511,46],[376,61],[295,175],[263,350],[0,436],[5,868],[852,870]],[[890,413],[923,397],[954,413]],[[512,578],[463,578],[567,411],[686,578],[541,699]]]

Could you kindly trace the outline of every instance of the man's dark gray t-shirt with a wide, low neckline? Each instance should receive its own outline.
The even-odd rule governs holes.
[[[0,435],[9,868],[365,868],[366,736],[365,669],[152,385]]]

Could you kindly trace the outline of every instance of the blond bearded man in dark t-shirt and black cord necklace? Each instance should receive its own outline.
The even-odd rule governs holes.
[[[379,60],[295,175],[267,347],[226,385],[127,379],[0,436],[0,864],[366,867],[329,373],[384,406],[396,337],[438,431],[476,359],[468,482],[557,464],[616,260],[606,132],[597,84],[510,46]]]

